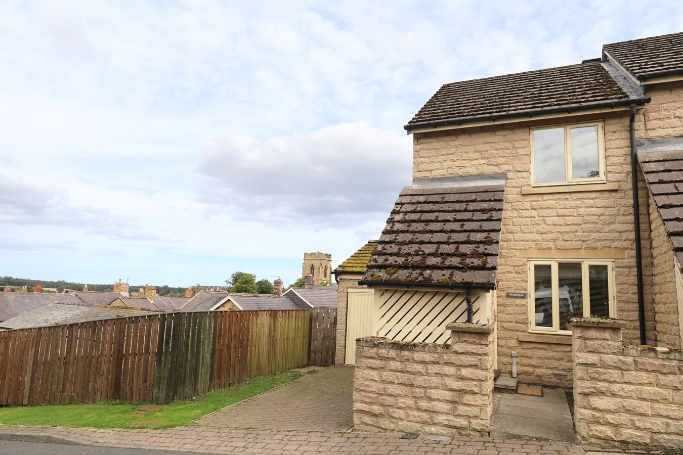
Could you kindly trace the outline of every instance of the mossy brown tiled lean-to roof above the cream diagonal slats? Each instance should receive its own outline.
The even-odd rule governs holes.
[[[360,284],[494,287],[505,179],[443,177],[404,188]]]

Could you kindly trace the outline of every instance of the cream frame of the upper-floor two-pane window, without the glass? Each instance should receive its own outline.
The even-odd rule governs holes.
[[[596,126],[598,128],[598,177],[575,179],[572,176],[572,143],[571,132],[572,128],[583,128],[587,126]],[[533,156],[533,132],[538,130],[554,130],[564,129],[564,181],[551,181],[547,183],[535,182],[535,159]],[[540,128],[531,128],[529,132],[529,141],[531,144],[531,186],[559,186],[559,185],[581,185],[581,184],[596,184],[607,182],[607,175],[605,173],[605,151],[604,151],[604,124],[602,121],[587,122],[587,123],[566,123],[564,125],[543,126]]]

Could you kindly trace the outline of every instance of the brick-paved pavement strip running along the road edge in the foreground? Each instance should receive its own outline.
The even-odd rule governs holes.
[[[566,442],[517,439],[460,438],[453,441],[400,439],[401,435],[354,432],[229,430],[178,427],[169,430],[92,430],[75,428],[0,428],[0,439],[68,442],[107,447],[137,447],[219,454],[328,454],[359,455],[592,455],[591,447]],[[613,452],[622,453],[619,450]],[[639,452],[643,454],[643,452]],[[605,455],[605,454],[596,454]]]

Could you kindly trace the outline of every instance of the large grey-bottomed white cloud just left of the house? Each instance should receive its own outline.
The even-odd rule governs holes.
[[[410,184],[410,138],[367,123],[257,141],[225,135],[199,155],[199,200],[236,220],[353,226]]]

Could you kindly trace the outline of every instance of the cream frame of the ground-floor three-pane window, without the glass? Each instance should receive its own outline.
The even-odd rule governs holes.
[[[607,286],[609,293],[609,317],[615,317],[616,295],[615,295],[615,276],[614,261],[581,261],[577,259],[558,259],[557,261],[529,261],[529,333],[535,334],[572,334],[571,330],[560,330],[559,328],[559,263],[581,263],[581,288],[583,300],[583,317],[590,317],[590,285],[589,272],[590,265],[607,265]],[[553,327],[536,327],[535,319],[535,295],[534,295],[534,265],[550,265],[550,287],[552,292]]]

